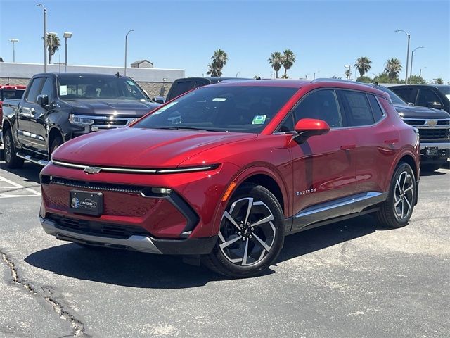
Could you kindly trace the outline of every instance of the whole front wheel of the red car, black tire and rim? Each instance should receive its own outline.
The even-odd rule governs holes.
[[[216,246],[202,261],[221,275],[251,277],[274,263],[283,242],[284,217],[276,197],[260,185],[243,184],[222,216]]]

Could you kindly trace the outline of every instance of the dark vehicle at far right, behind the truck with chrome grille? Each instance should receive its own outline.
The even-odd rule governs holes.
[[[404,101],[416,106],[442,109],[450,113],[450,86],[443,84],[409,84],[389,87]]]

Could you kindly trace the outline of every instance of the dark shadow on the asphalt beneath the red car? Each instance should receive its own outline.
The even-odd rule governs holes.
[[[286,237],[277,263],[307,255],[328,246],[383,230],[363,215]],[[158,256],[136,251],[88,249],[77,244],[53,246],[30,254],[25,262],[37,268],[81,280],[127,287],[179,289],[226,280],[201,266],[187,265],[177,256]],[[274,270],[267,270],[270,275]]]

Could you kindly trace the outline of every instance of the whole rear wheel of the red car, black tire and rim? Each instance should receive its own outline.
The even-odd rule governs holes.
[[[387,199],[375,213],[378,223],[390,228],[407,225],[413,213],[416,194],[413,170],[408,163],[400,162],[392,177]]]

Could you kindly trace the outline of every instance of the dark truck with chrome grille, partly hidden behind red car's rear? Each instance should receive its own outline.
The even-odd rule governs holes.
[[[375,88],[389,94],[401,120],[419,130],[420,164],[423,170],[432,171],[441,168],[450,158],[449,113],[434,108],[406,104],[390,89],[383,86],[375,86]]]

